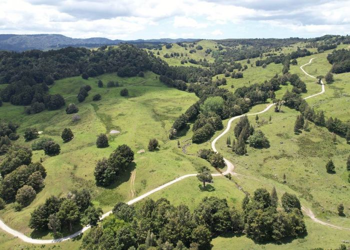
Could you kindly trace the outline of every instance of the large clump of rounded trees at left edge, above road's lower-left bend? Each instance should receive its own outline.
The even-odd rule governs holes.
[[[31,150],[26,147],[10,147],[0,163],[3,177],[0,183],[1,198],[17,202],[16,208],[28,205],[43,187],[45,168],[39,162],[31,162]]]

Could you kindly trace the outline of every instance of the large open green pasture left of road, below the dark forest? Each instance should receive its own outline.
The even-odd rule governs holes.
[[[97,78],[83,80],[81,77],[71,77],[56,81],[49,93],[60,92],[66,98],[66,104],[77,104],[77,114],[81,117],[77,122],[71,121],[72,115],[66,114],[64,108],[26,115],[23,107],[8,103],[0,107],[1,117],[20,124],[18,134],[21,136],[16,143],[30,147],[35,140],[24,142],[23,130],[26,127],[36,127],[43,131],[40,137],[53,138],[61,147],[60,154],[52,157],[44,155],[42,150],[33,151],[33,161],[40,158],[43,160],[42,164],[47,171],[46,185],[33,202],[21,211],[14,211],[13,203],[1,210],[0,217],[4,222],[28,234],[31,231],[27,226],[30,212],[50,195],[65,195],[72,188],[88,187],[92,191],[93,203],[107,211],[117,201],[131,199],[132,194],[137,196],[177,176],[193,173],[197,165],[208,165],[203,159],[183,155],[176,140],[170,141],[167,138],[173,120],[194,103],[197,97],[193,93],[166,87],[156,77],[149,72],[144,78],[119,78],[113,74],[98,77],[104,84],[107,80],[114,79],[124,87],[127,86],[127,97],[120,96],[122,87],[98,88]],[[83,84],[90,84],[92,89],[89,96],[78,103],[74,95]],[[92,96],[97,92],[102,99],[92,101]],[[74,138],[67,143],[62,143],[60,138],[64,127],[70,127],[74,133]],[[108,135],[109,147],[96,148],[96,135],[109,134],[111,129],[119,130],[120,133]],[[160,149],[148,152],[148,140],[152,137],[158,139]],[[123,143],[135,152],[134,163],[116,183],[106,188],[96,187],[93,176],[95,162],[107,157],[117,145]],[[136,153],[140,149],[146,151]],[[131,171],[135,174],[133,183],[130,183]]]

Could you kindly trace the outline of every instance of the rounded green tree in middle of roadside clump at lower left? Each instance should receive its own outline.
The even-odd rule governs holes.
[[[72,231],[73,223],[80,217],[78,206],[71,199],[65,199],[59,206],[57,216],[60,221],[68,224],[69,231]]]

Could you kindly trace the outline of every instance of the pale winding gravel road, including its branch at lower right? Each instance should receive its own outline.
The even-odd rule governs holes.
[[[307,64],[310,64],[311,61],[312,61],[312,59],[314,59],[314,58],[311,58],[309,62],[307,62],[307,63],[301,65],[301,66],[300,66],[300,69],[301,69],[306,75],[308,75],[309,77],[316,78],[316,77],[314,77],[313,75],[308,74],[308,73],[302,68],[303,66],[305,66],[305,65],[307,65]],[[316,95],[319,95],[319,94],[324,93],[324,83],[323,83],[323,81],[321,81],[321,86],[322,86],[322,90],[321,90],[320,92],[318,92],[318,93],[316,93],[316,94],[312,94],[312,95],[310,95],[310,96],[307,96],[307,97],[305,97],[304,99],[311,98],[311,97],[313,97],[313,96],[316,96]],[[263,110],[260,111],[260,112],[242,114],[242,115],[237,115],[237,116],[234,116],[234,117],[230,118],[230,119],[228,120],[228,122],[227,122],[227,126],[226,126],[225,130],[223,130],[223,131],[222,131],[217,137],[215,137],[215,138],[213,139],[213,141],[211,142],[211,148],[212,148],[212,150],[214,150],[215,152],[217,152],[216,147],[215,147],[215,143],[216,143],[216,141],[217,141],[219,138],[221,138],[225,133],[227,133],[227,132],[229,131],[230,126],[231,126],[231,123],[232,123],[233,120],[238,119],[239,117],[241,117],[241,116],[243,116],[243,115],[256,115],[256,114],[260,114],[260,113],[266,112],[266,111],[267,111],[268,109],[270,109],[273,105],[274,105],[274,103],[267,105],[266,108],[263,109]],[[233,171],[233,170],[234,170],[234,165],[233,165],[228,159],[225,159],[225,158],[224,158],[224,161],[225,161],[225,163],[226,163],[226,165],[227,165],[227,169],[226,169],[224,172],[222,172],[222,173],[213,173],[212,176],[222,176],[222,174],[225,175],[225,174],[230,173],[230,174],[232,174],[232,175],[243,176],[243,177],[255,179],[255,178],[253,178],[253,177],[249,177],[249,176],[240,175],[240,174],[238,174],[238,173],[235,173],[235,172]],[[171,184],[173,184],[173,183],[175,183],[175,182],[177,182],[177,181],[180,181],[180,180],[182,180],[182,179],[184,179],[184,178],[187,178],[187,177],[190,177],[190,176],[196,176],[196,175],[197,175],[196,173],[191,173],[191,174],[186,174],[186,175],[180,176],[180,177],[178,177],[178,178],[176,178],[176,179],[174,179],[174,180],[171,180],[171,181],[169,181],[169,182],[167,182],[167,183],[165,183],[165,184],[163,184],[163,185],[161,185],[161,186],[158,186],[158,187],[156,187],[156,188],[154,188],[154,189],[152,189],[152,190],[150,190],[150,191],[148,191],[148,192],[146,192],[146,193],[144,193],[144,194],[142,194],[142,195],[140,195],[140,196],[138,196],[138,197],[136,197],[136,198],[134,198],[134,199],[129,200],[129,201],[127,202],[127,204],[129,204],[129,205],[130,205],[130,204],[133,204],[133,203],[135,203],[135,202],[137,202],[137,201],[139,201],[139,200],[141,200],[141,199],[143,199],[143,198],[149,196],[150,194],[152,194],[152,193],[154,193],[154,192],[156,192],[156,191],[159,191],[159,190],[163,189],[164,187],[167,187],[167,186],[169,186],[169,185],[171,185]],[[258,179],[256,179],[256,180],[258,180]],[[321,220],[317,219],[317,218],[314,216],[314,214],[312,213],[311,209],[309,209],[309,208],[307,208],[307,207],[302,206],[301,209],[302,209],[302,210],[304,211],[304,213],[305,213],[307,216],[309,216],[314,222],[317,222],[317,223],[320,223],[320,224],[322,224],[322,225],[326,225],[326,226],[329,226],[329,227],[332,227],[332,228],[336,228],[336,229],[350,230],[350,228],[332,225],[332,224],[329,224],[329,223],[326,223],[326,222],[324,222],[324,221],[321,221]],[[108,211],[108,212],[104,213],[104,214],[100,217],[100,219],[102,220],[103,218],[105,218],[106,216],[108,216],[111,212],[112,212],[112,211]],[[12,228],[10,228],[10,227],[7,226],[1,219],[0,219],[0,228],[1,228],[2,230],[4,230],[4,231],[8,232],[9,234],[11,234],[11,235],[13,235],[13,236],[15,236],[15,237],[18,237],[18,238],[20,238],[21,240],[23,240],[23,241],[25,241],[25,242],[28,242],[28,243],[34,243],[34,244],[49,244],[49,243],[57,243],[57,242],[61,242],[61,241],[64,241],[64,240],[71,239],[71,238],[73,238],[73,237],[79,235],[80,233],[86,231],[87,229],[89,229],[90,226],[89,226],[89,225],[86,225],[86,226],[84,226],[83,228],[81,228],[80,230],[78,230],[77,232],[75,232],[75,233],[73,233],[73,234],[71,234],[71,235],[68,235],[68,236],[65,236],[65,237],[62,237],[62,238],[57,238],[57,239],[34,239],[34,238],[30,238],[30,237],[24,235],[23,233],[21,233],[21,232],[19,232],[19,231],[16,231],[16,230],[14,230],[14,229],[12,229]]]

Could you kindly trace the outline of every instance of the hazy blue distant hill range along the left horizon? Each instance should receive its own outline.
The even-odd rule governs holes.
[[[102,45],[118,44],[120,42],[128,43],[164,43],[164,42],[178,42],[178,41],[195,41],[197,39],[149,39],[149,40],[111,40],[103,37],[91,38],[71,38],[61,34],[0,34],[0,49],[23,51],[28,49],[54,49],[68,46],[84,46],[84,47],[98,47]]]

